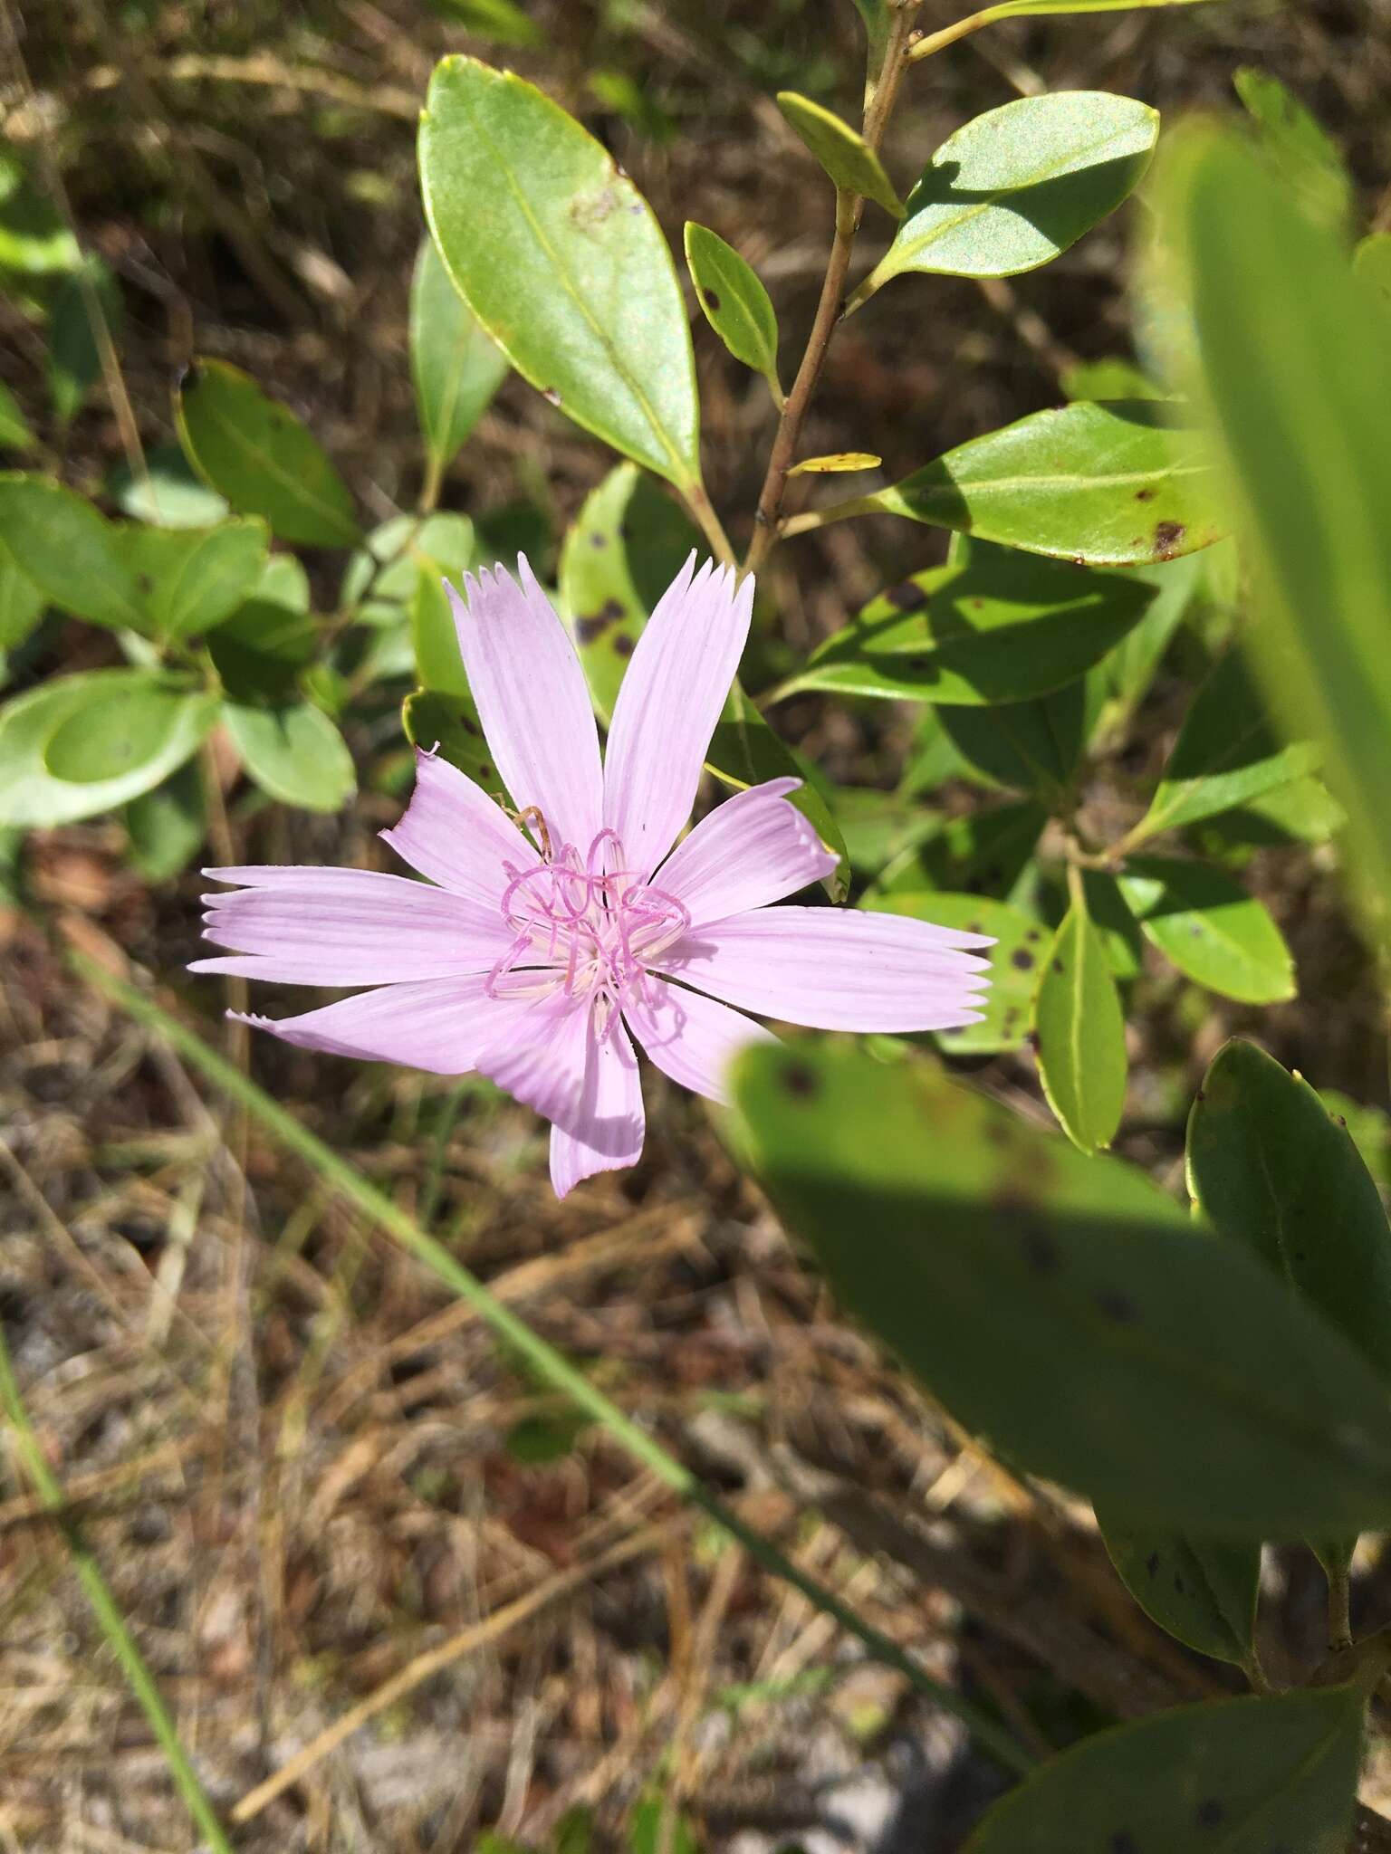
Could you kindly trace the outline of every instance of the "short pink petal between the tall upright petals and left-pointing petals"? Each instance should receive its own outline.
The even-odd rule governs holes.
[[[401,823],[378,832],[432,883],[501,908],[504,864],[529,870],[540,857],[506,812],[438,753],[415,751],[415,790]]]

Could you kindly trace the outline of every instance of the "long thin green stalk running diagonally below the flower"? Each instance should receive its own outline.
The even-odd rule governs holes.
[[[1024,1774],[1033,1767],[1033,1758],[989,1713],[972,1706],[970,1700],[963,1700],[951,1687],[933,1680],[896,1641],[890,1641],[888,1635],[883,1635],[862,1617],[855,1615],[833,1591],[818,1583],[816,1578],[807,1576],[770,1539],[764,1539],[760,1531],[747,1526],[690,1468],[668,1454],[660,1442],[653,1441],[603,1390],[595,1389],[584,1372],[577,1370],[564,1353],[549,1346],[525,1320],[517,1318],[501,1300],[490,1294],[482,1281],[464,1268],[462,1263],[454,1261],[441,1242],[428,1237],[414,1218],[369,1185],[347,1161],[325,1146],[323,1140],[302,1127],[278,1101],[263,1094],[254,1081],[217,1055],[215,1049],[210,1049],[195,1031],[169,1016],[152,997],[113,977],[74,947],[69,949],[67,957],[87,984],[126,1010],[145,1029],[163,1036],[206,1081],[254,1114],[280,1146],[297,1153],[369,1222],[386,1231],[417,1261],[425,1263],[445,1287],[467,1302],[493,1333],[521,1355],[536,1378],[562,1392],[577,1409],[606,1429],[636,1463],[655,1474],[675,1494],[690,1500],[692,1505],[707,1513],[764,1570],[790,1583],[810,1604],[838,1622],[846,1633],[855,1635],[874,1659],[903,1674],[918,1693],[931,1698],[944,1711],[955,1713],[972,1732],[979,1748],[992,1756],[1005,1771]]]

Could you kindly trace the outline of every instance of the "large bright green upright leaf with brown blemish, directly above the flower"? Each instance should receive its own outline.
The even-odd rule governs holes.
[[[623,456],[697,484],[681,286],[614,158],[542,91],[471,57],[436,65],[419,154],[445,269],[517,373]]]

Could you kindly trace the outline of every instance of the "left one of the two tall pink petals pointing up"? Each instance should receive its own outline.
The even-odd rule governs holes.
[[[497,567],[445,582],[479,719],[512,803],[534,805],[558,849],[581,855],[599,834],[599,730],[575,645],[525,556],[521,586]]]

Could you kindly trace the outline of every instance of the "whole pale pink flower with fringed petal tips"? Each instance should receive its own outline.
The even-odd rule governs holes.
[[[449,597],[469,688],[517,823],[421,753],[386,842],[428,883],[367,870],[208,870],[195,971],[365,984],[302,1016],[245,1022],[302,1049],[479,1070],[551,1122],[564,1196],[642,1151],[632,1038],[673,1081],[725,1099],[744,1010],[829,1031],[974,1023],[981,934],[859,908],[783,907],[835,868],[788,803],[796,779],[727,799],[675,849],[749,630],[753,582],[694,554],[629,662],[599,762],[584,673],[525,560]],[[523,834],[527,832],[527,834]]]

